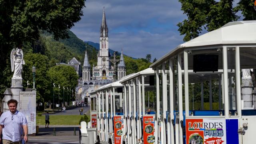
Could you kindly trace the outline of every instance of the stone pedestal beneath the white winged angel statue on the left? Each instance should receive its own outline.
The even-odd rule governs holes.
[[[22,92],[23,86],[22,86],[22,78],[12,78],[12,86],[11,86],[11,91],[12,91],[12,99],[18,101],[18,107],[17,109],[19,110],[20,108],[20,92]]]

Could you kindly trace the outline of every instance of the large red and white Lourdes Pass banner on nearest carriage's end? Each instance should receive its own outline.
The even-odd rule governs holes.
[[[226,144],[226,120],[186,119],[186,144]]]

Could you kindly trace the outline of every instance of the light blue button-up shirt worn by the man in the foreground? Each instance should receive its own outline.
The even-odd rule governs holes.
[[[22,126],[27,124],[26,117],[18,110],[14,114],[10,111],[4,112],[0,117],[0,125],[4,126],[2,139],[12,142],[20,141],[23,134]]]

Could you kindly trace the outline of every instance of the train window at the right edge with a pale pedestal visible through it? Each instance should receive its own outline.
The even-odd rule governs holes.
[[[256,115],[256,47],[240,47],[242,116]]]

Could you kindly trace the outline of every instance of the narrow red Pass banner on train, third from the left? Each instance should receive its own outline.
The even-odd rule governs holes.
[[[155,116],[143,116],[143,142],[155,143]]]

